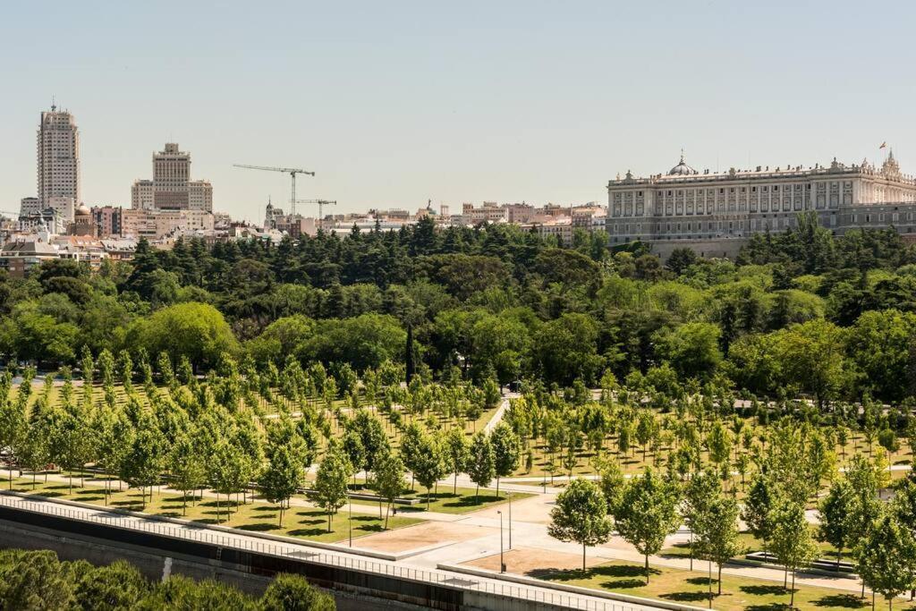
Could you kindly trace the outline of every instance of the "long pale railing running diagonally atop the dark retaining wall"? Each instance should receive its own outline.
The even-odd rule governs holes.
[[[158,536],[169,537],[170,539],[197,541],[224,548],[252,551],[282,558],[292,558],[300,562],[336,566],[362,573],[388,575],[413,582],[438,584],[455,590],[469,590],[489,595],[538,602],[545,605],[583,609],[584,611],[637,611],[638,608],[642,608],[594,600],[593,598],[587,597],[587,595],[553,592],[550,590],[549,584],[545,584],[542,588],[520,584],[506,584],[496,579],[486,579],[465,573],[445,573],[442,571],[424,570],[404,566],[393,562],[376,562],[354,558],[347,555],[345,551],[339,553],[308,551],[302,549],[308,548],[307,541],[303,541],[302,544],[283,544],[267,540],[254,540],[253,538],[235,535],[234,533],[213,531],[212,529],[207,529],[206,526],[173,525],[156,519],[145,519],[127,514],[114,514],[113,512],[105,511],[102,507],[97,511],[88,508],[80,511],[71,507],[60,506],[53,501],[31,501],[21,496],[9,496],[5,494],[0,494],[0,505],[25,509],[33,513],[46,514],[59,518],[103,524],[104,526],[115,529],[139,530]],[[646,608],[651,607],[647,606]]]

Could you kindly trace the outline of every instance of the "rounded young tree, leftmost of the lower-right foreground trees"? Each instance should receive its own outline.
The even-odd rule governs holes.
[[[585,549],[604,543],[611,536],[611,520],[607,518],[607,501],[594,482],[577,478],[559,495],[551,509],[551,524],[547,529],[554,539],[582,544],[582,570],[585,570]]]

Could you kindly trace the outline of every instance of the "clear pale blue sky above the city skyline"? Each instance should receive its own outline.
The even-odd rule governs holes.
[[[875,160],[916,170],[916,3],[58,2],[0,18],[0,210],[52,97],[82,199],[130,204],[167,141],[217,210],[606,202],[607,180]],[[300,211],[310,213],[308,206]],[[330,210],[329,210],[330,212]]]

